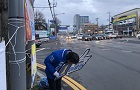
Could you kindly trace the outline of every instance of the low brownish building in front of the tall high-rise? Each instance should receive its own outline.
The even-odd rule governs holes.
[[[85,23],[82,25],[82,32],[88,34],[98,33],[97,24]]]

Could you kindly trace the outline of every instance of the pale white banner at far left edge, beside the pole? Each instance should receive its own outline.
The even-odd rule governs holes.
[[[5,42],[0,43],[0,90],[7,90]]]

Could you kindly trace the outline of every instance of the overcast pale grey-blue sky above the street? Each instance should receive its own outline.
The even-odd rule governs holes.
[[[53,0],[50,0],[51,5]],[[58,19],[62,25],[73,25],[73,17],[75,14],[80,16],[89,16],[92,23],[96,23],[95,18],[99,18],[99,24],[108,24],[109,14],[114,16],[116,14],[140,8],[140,0],[55,0],[57,7],[55,7]],[[35,7],[48,7],[48,0],[35,0]],[[37,9],[37,8],[36,8]],[[35,10],[36,10],[35,9]],[[49,8],[38,9],[45,15],[46,20],[52,19]]]

